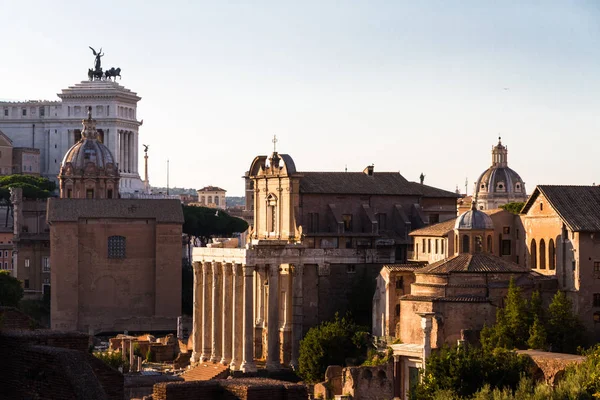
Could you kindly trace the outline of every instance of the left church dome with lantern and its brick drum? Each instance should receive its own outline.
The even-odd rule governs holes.
[[[60,197],[118,197],[119,170],[108,147],[98,140],[92,108],[82,121],[81,139],[65,154],[59,173]]]

